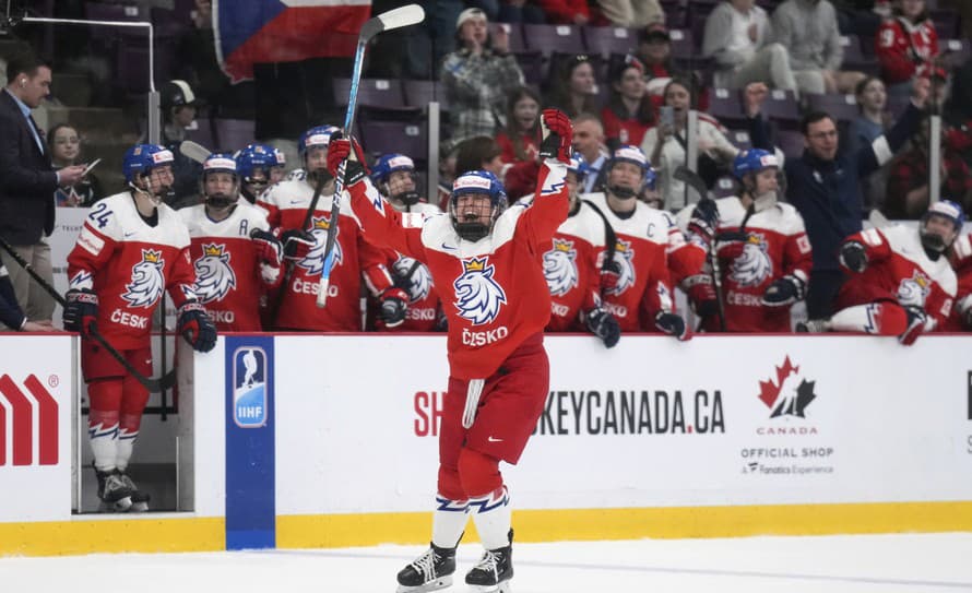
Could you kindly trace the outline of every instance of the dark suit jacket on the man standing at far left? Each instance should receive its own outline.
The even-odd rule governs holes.
[[[0,91],[0,236],[11,245],[34,245],[54,230],[58,178],[29,126],[10,93]]]

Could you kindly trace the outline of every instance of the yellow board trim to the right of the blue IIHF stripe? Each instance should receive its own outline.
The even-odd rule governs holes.
[[[518,542],[972,531],[972,501],[513,511]],[[276,518],[280,548],[428,542],[423,513]],[[472,522],[465,542],[478,541]]]

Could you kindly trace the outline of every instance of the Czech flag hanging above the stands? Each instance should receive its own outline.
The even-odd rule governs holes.
[[[213,0],[216,58],[233,82],[253,64],[353,56],[371,0]]]

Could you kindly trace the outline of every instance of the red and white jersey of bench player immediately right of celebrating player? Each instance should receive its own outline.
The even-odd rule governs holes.
[[[601,304],[601,265],[606,223],[583,201],[554,234],[543,254],[544,277],[550,289],[549,332],[584,331],[580,313]]]

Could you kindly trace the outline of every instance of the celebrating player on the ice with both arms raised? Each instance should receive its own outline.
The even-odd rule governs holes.
[[[544,164],[530,205],[507,207],[499,180],[474,170],[457,177],[448,214],[401,214],[368,182],[360,164],[347,161],[348,191],[365,234],[425,262],[449,318],[450,377],[431,546],[399,572],[400,592],[452,583],[455,547],[470,514],[486,552],[465,582],[474,591],[508,591],[513,576],[511,506],[499,462],[519,461],[547,398],[543,329],[550,297],[540,254],[567,217],[569,200],[570,120],[547,109],[542,128]],[[331,170],[353,152],[349,141],[334,141]]]

